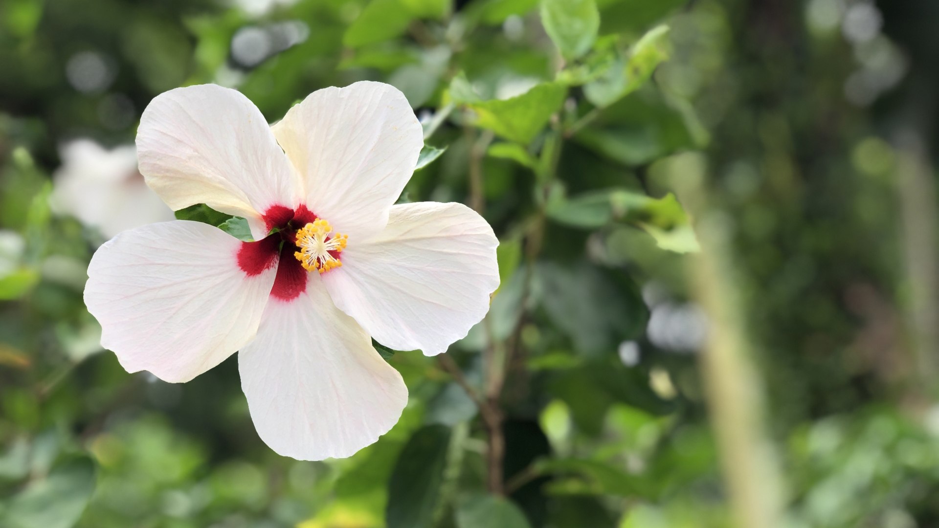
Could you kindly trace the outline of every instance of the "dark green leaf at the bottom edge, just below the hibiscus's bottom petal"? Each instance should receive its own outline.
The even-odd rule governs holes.
[[[437,509],[450,427],[418,429],[408,440],[388,482],[388,528],[430,528]]]

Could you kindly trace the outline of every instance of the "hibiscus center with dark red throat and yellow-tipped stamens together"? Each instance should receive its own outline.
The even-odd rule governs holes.
[[[264,223],[270,233],[265,239],[241,242],[238,263],[241,271],[254,276],[277,266],[270,295],[291,301],[306,290],[308,272],[328,272],[342,266],[340,253],[346,248],[345,235],[332,232],[328,222],[300,205],[296,210],[272,206],[265,211]]]

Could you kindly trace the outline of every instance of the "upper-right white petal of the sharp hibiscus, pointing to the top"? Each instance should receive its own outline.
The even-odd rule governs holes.
[[[272,130],[306,181],[306,206],[350,239],[388,222],[423,147],[404,94],[370,81],[316,90]]]

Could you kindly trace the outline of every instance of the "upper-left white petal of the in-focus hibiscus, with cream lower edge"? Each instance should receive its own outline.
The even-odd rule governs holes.
[[[261,112],[239,91],[195,85],[150,101],[137,129],[140,172],[174,210],[204,203],[245,218],[293,209],[300,179]]]

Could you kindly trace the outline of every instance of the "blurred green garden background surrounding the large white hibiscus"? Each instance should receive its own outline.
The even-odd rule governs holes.
[[[937,27],[922,0],[3,0],[0,525],[939,525]],[[424,123],[401,201],[484,214],[502,286],[443,358],[382,349],[391,432],[297,461],[236,358],[126,373],[85,268],[228,220],[136,172],[155,95],[274,122],[365,79]]]

